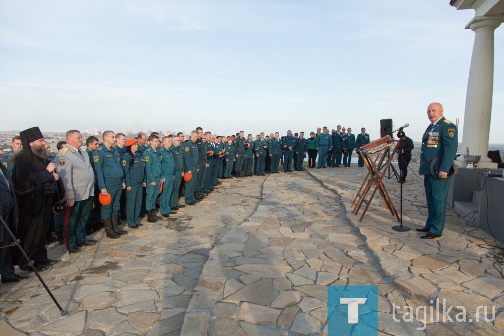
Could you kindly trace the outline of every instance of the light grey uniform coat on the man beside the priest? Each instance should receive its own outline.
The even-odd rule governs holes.
[[[94,196],[94,173],[87,153],[66,144],[56,154],[56,170],[65,187],[64,200],[83,201]]]

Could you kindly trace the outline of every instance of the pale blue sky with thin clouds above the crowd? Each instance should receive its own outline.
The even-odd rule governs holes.
[[[379,138],[392,118],[418,141],[439,101],[461,141],[473,16],[448,0],[2,1],[0,130],[340,124]],[[491,143],[504,142],[503,49],[499,27]]]

